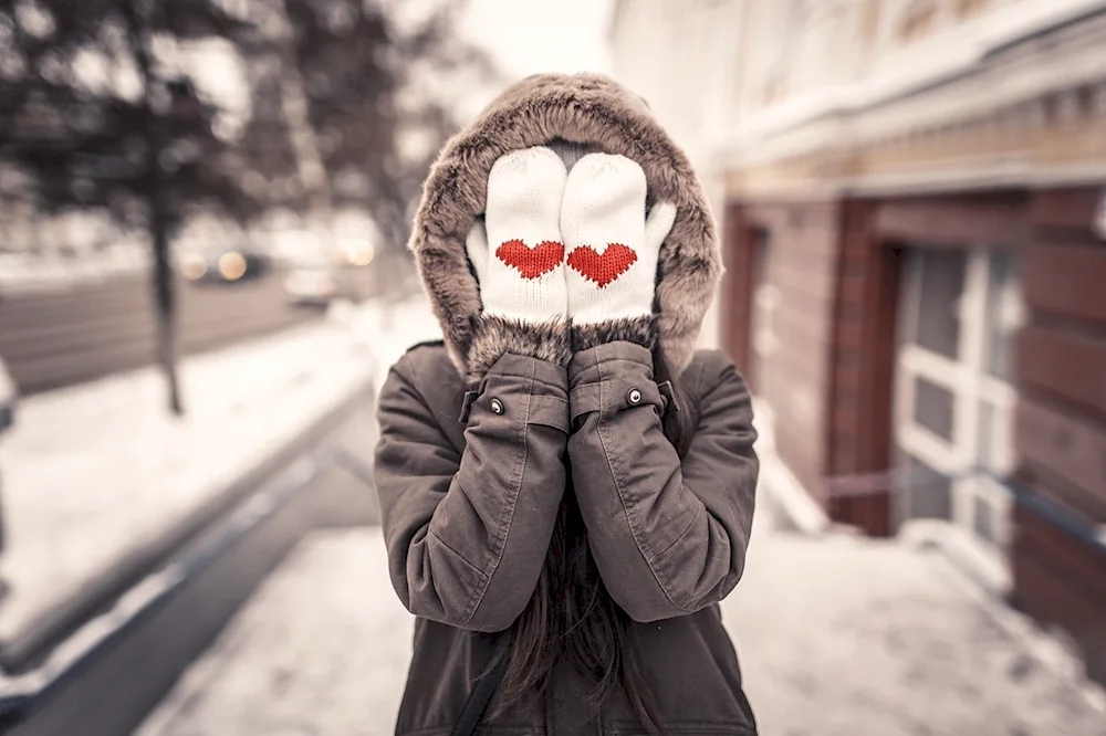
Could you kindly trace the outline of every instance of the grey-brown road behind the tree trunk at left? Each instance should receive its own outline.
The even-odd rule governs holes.
[[[346,276],[372,295],[382,269]],[[177,283],[184,355],[258,337],[320,316],[289,305],[275,271],[236,284]],[[145,275],[117,275],[65,291],[0,296],[0,356],[23,395],[92,380],[156,360],[153,292]]]

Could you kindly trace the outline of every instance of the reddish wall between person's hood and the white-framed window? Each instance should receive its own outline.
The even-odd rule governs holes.
[[[874,202],[734,203],[727,210],[726,345],[775,412],[776,451],[838,522],[887,535],[886,493],[831,500],[827,476],[889,463],[900,264],[876,236]],[[752,354],[755,232],[770,233],[778,350]]]

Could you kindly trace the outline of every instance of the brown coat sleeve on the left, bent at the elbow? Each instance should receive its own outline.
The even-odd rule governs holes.
[[[419,386],[409,354],[379,397],[375,480],[393,585],[416,616],[501,631],[538,585],[564,493],[567,376],[501,357],[471,404],[460,453]]]

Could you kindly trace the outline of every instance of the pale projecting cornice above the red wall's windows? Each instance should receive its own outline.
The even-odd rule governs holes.
[[[1106,3],[1100,3],[1106,4]],[[1106,179],[1106,8],[917,94],[711,147],[731,189],[919,190]]]

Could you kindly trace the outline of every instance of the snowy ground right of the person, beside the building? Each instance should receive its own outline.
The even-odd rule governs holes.
[[[722,606],[763,734],[1106,734],[1100,691],[1075,663],[1032,656],[1000,624],[1014,613],[939,553],[781,532],[763,511]]]

